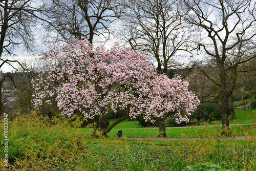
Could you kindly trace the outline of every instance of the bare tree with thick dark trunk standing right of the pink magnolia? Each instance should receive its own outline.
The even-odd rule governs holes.
[[[198,69],[220,92],[216,102],[221,106],[223,134],[229,134],[228,98],[237,79],[238,66],[256,57],[255,51],[255,2],[250,0],[182,0],[187,10],[186,22],[201,31],[198,49],[209,56],[202,56],[201,63],[215,63],[218,79],[211,77],[202,68]],[[205,56],[204,54],[204,56]]]

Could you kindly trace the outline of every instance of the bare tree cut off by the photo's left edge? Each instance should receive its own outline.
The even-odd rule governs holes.
[[[18,60],[7,58],[12,56],[15,47],[31,50],[33,47],[33,27],[36,26],[39,18],[36,13],[40,13],[39,8],[34,8],[35,2],[32,0],[4,0],[0,2],[1,31],[0,31],[0,69],[4,65],[9,65],[13,70],[18,70],[15,66],[22,64]],[[13,83],[13,76],[5,74],[0,80],[0,89],[5,79],[9,77]],[[2,99],[2,93],[0,93]],[[2,105],[0,106],[2,115]]]

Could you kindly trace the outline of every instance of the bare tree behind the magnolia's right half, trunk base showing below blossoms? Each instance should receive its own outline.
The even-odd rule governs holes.
[[[145,0],[127,1],[125,6],[123,35],[131,48],[156,61],[159,74],[184,67],[181,58],[190,52],[191,27],[184,24],[180,4]],[[164,121],[159,118],[159,136],[166,136]]]

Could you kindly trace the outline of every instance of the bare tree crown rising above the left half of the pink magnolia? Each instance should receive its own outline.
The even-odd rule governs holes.
[[[119,18],[121,8],[118,1],[106,0],[46,0],[51,21],[46,26],[50,36],[88,38],[91,44],[95,36],[108,38],[111,24]],[[99,40],[98,40],[99,41]]]

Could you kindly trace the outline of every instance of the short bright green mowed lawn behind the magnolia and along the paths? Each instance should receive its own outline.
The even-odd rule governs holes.
[[[250,109],[247,110],[235,110],[236,119],[229,120],[229,124],[244,124],[244,123],[256,123],[256,111]],[[230,118],[230,116],[229,116]],[[112,124],[116,120],[110,120]],[[167,138],[192,138],[192,137],[219,137],[222,126],[221,120],[203,123],[198,125],[190,125],[187,127],[166,127]],[[202,125],[203,127],[196,127]],[[208,127],[208,125],[216,125]],[[252,131],[253,125],[232,125],[232,136],[248,136],[255,135],[256,133]],[[88,136],[91,133],[91,129],[79,129],[81,133],[87,134]],[[158,136],[158,127],[142,127],[138,121],[128,121],[124,120],[123,122],[116,125],[108,136],[117,137],[117,132],[122,130],[122,137],[136,137],[136,138],[157,138]]]

